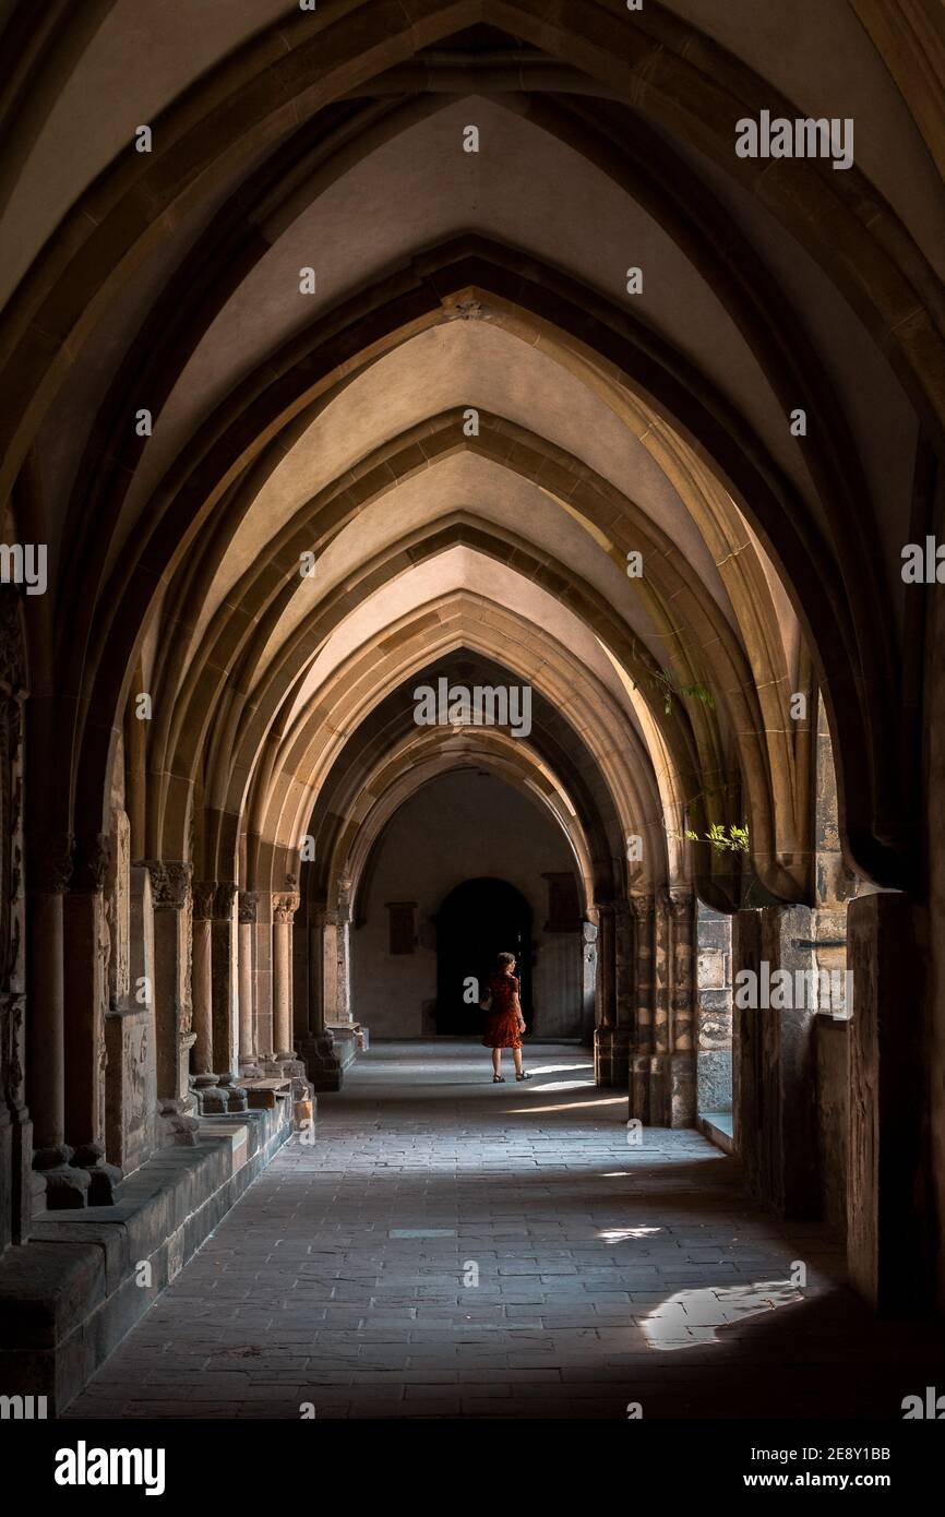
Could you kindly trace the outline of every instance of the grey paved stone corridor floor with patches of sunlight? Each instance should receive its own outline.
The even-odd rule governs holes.
[[[319,1100],[68,1417],[893,1417],[945,1359],[587,1053],[387,1044]],[[798,1289],[805,1267],[807,1283]]]

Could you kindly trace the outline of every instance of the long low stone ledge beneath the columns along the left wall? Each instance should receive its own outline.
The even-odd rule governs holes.
[[[197,1144],[155,1153],[118,1204],[38,1220],[0,1261],[0,1394],[47,1396],[61,1415],[290,1133],[287,1100],[203,1118]]]

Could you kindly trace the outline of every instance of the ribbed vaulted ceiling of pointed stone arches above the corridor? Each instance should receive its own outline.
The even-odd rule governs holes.
[[[328,898],[475,763],[589,897],[722,898],[680,833],[746,821],[807,898],[821,687],[848,860],[907,878],[945,33],[887,9],[8,3],[33,825],[108,830],[124,736],[138,857],[278,887],[314,834]],[[852,117],[856,167],[737,158],[760,109]],[[419,730],[416,684],[463,671],[531,683],[531,736]]]

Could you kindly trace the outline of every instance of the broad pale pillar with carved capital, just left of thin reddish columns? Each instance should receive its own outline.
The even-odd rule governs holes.
[[[158,1109],[171,1141],[187,1141],[197,1103],[190,1089],[193,1004],[190,985],[190,863],[147,863],[155,906],[155,1038]]]

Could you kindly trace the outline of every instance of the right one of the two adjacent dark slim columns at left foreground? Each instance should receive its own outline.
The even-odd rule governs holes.
[[[89,1171],[89,1206],[117,1200],[121,1171],[105,1164],[105,1013],[111,931],[105,907],[109,839],[83,839],[64,900],[65,931],[65,1133],[73,1164]]]

